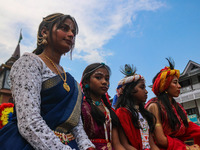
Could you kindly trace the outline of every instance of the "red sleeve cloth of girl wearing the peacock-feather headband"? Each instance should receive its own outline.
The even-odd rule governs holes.
[[[140,129],[134,127],[131,119],[131,113],[126,108],[118,108],[116,114],[120,120],[123,130],[130,142],[130,144],[137,150],[143,149]]]

